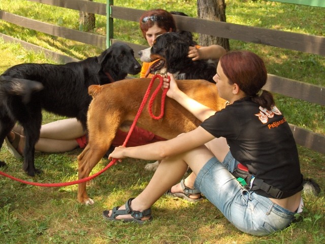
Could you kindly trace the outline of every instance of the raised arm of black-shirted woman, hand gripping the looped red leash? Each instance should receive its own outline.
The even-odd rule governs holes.
[[[170,76],[170,82],[168,83],[168,79],[165,78],[164,88],[169,88],[167,92],[168,97],[173,98],[201,121],[204,121],[211,115],[215,114],[215,110],[197,102],[179,90],[173,74],[168,73],[167,75]]]

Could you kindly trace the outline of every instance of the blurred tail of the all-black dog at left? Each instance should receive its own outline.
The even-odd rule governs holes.
[[[28,103],[34,92],[41,91],[43,84],[29,79],[0,76],[0,97],[5,99],[9,95],[21,96],[23,103]]]

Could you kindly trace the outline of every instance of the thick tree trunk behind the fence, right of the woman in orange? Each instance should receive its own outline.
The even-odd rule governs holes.
[[[225,0],[197,0],[198,16],[201,19],[223,21],[225,20]],[[210,46],[218,44],[225,50],[230,50],[229,39],[212,35],[200,34],[199,44],[201,46]]]

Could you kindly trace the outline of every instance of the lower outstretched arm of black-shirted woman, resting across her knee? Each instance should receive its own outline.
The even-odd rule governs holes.
[[[159,141],[137,147],[116,147],[108,158],[133,157],[144,160],[161,160],[196,148],[212,139],[214,139],[214,136],[202,127],[198,127],[168,141]]]

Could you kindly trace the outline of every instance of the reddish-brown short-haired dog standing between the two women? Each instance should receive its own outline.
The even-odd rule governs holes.
[[[110,148],[116,131],[133,123],[149,83],[150,78],[135,78],[88,88],[88,93],[93,98],[87,117],[89,141],[78,156],[79,179],[89,176],[93,167]],[[158,84],[159,80],[156,79],[152,91]],[[216,85],[206,80],[177,80],[177,84],[188,96],[216,111],[225,105],[225,100],[218,95]],[[160,113],[161,93],[159,92],[152,106],[156,116]],[[200,120],[175,100],[166,97],[164,117],[160,120],[151,118],[147,102],[137,126],[160,137],[172,139],[197,128],[200,123]],[[84,204],[93,204],[93,200],[87,195],[86,183],[78,185],[78,200]]]

